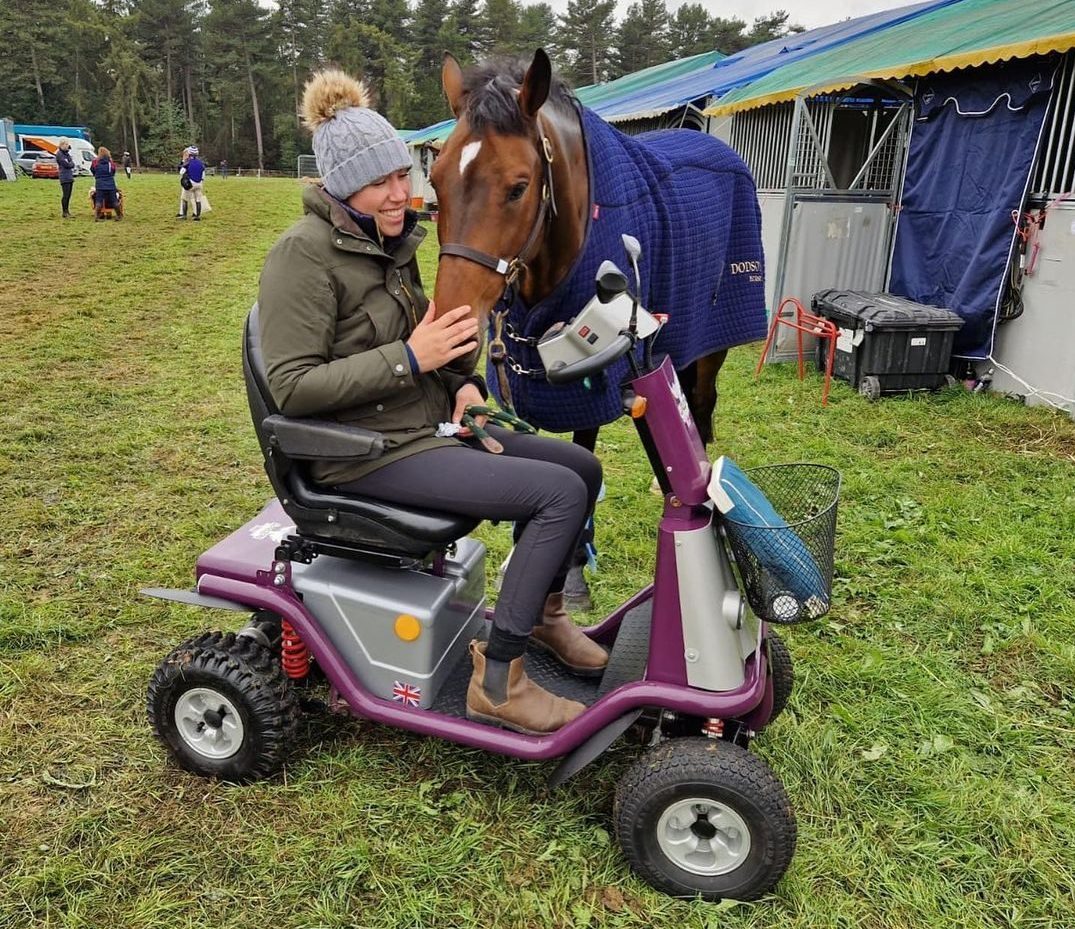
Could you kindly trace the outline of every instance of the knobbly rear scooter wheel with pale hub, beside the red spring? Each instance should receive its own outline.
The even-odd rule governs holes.
[[[290,683],[254,639],[206,632],[157,667],[149,723],[187,771],[246,783],[283,767],[299,720]]]

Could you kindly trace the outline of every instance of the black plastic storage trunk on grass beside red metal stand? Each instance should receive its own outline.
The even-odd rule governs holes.
[[[932,390],[947,381],[951,345],[963,320],[950,310],[924,306],[892,294],[821,290],[814,312],[841,328],[834,376],[865,397],[889,390]],[[817,344],[822,371],[829,343]]]

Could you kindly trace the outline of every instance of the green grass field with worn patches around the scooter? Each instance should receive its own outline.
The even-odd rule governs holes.
[[[270,494],[240,327],[299,188],[211,180],[180,224],[174,181],[135,176],[95,225],[87,187],[61,221],[54,182],[0,184],[2,929],[1075,925],[1075,424],[961,388],[837,383],[822,410],[816,375],[754,381],[757,346],[721,375],[716,448],[844,475],[835,606],[785,633],[797,691],[755,745],[799,817],[771,897],[631,875],[627,746],[550,792],[551,764],[314,714],[274,782],[170,766],[148,677],[242,618],[137,591],[189,586]],[[646,583],[660,502],[628,426],[599,452],[602,613]],[[490,566],[506,533],[483,527]]]

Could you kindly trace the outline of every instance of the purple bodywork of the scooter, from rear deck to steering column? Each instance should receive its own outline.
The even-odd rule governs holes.
[[[743,662],[742,683],[725,690],[688,685],[676,533],[711,526],[713,512],[706,492],[711,466],[670,360],[665,359],[654,371],[632,381],[630,387],[646,400],[645,413],[636,425],[650,451],[655,469],[660,462],[671,492],[665,494],[658,528],[654,584],[586,632],[598,642],[611,644],[624,616],[651,599],[646,675],[645,680],[624,684],[601,697],[580,716],[555,732],[542,737],[524,735],[372,696],[296,595],[290,562],[275,560],[276,545],[292,528],[291,520],[276,501],[198,559],[198,592],[253,610],[268,610],[288,620],[354,715],[501,755],[528,760],[560,757],[642,708],[703,718],[736,719],[747,729],[760,729],[769,720],[773,706],[772,683],[763,653],[764,624],[758,625],[752,654]]]

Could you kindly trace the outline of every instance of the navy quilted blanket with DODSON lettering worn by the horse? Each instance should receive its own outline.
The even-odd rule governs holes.
[[[594,292],[598,266],[611,259],[633,275],[620,234],[642,243],[642,305],[665,313],[656,354],[676,368],[765,338],[761,212],[754,178],[743,160],[705,132],[670,129],[625,135],[580,108],[589,162],[591,206],[582,254],[571,273],[536,306],[516,301],[507,311],[505,343],[516,412],[553,432],[589,429],[622,414],[621,359],[590,382],[554,386],[544,376],[534,343],[554,323],[565,321]],[[497,392],[492,363],[489,384]]]

